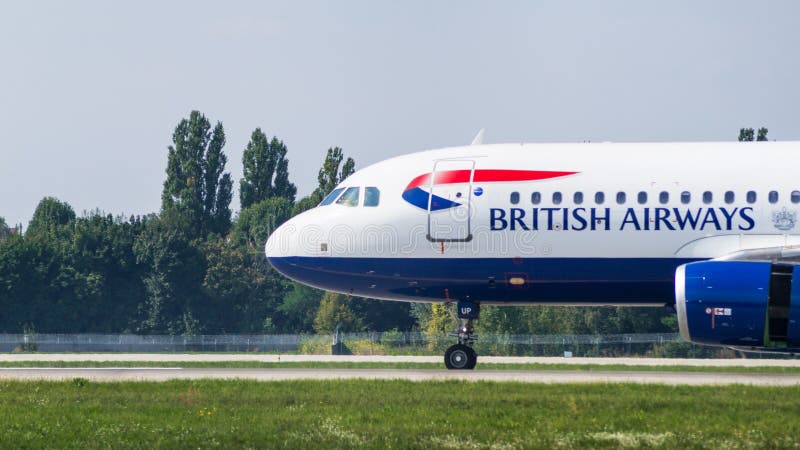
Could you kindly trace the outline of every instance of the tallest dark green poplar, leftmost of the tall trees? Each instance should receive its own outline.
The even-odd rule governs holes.
[[[225,130],[199,111],[192,111],[175,127],[167,161],[167,179],[161,210],[177,210],[189,219],[193,237],[207,233],[225,235],[231,225],[233,182],[224,173]]]

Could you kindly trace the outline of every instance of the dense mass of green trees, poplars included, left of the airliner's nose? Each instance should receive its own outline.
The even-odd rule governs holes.
[[[0,332],[166,334],[311,332],[322,292],[290,283],[264,258],[270,233],[316,206],[353,173],[330,148],[312,196],[294,204],[287,148],[256,129],[243,156],[242,211],[231,223],[225,130],[199,111],[168,147],[159,214],[129,220],[76,217],[43,199],[24,235],[0,219]],[[331,294],[333,295],[333,294]],[[361,329],[411,326],[408,305],[326,303],[328,320]],[[321,320],[321,319],[320,319]]]

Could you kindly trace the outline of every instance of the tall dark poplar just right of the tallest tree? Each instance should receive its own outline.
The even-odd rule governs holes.
[[[272,141],[256,128],[242,156],[244,177],[239,183],[242,209],[271,197],[283,197],[294,202],[297,188],[289,182],[289,160],[286,146],[273,137]]]

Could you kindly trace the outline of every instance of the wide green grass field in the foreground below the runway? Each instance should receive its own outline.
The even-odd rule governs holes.
[[[0,382],[0,448],[789,448],[800,387]]]

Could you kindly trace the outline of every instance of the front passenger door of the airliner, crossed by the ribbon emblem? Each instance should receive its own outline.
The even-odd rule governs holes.
[[[428,240],[469,242],[475,161],[441,160],[433,164],[428,186]]]

